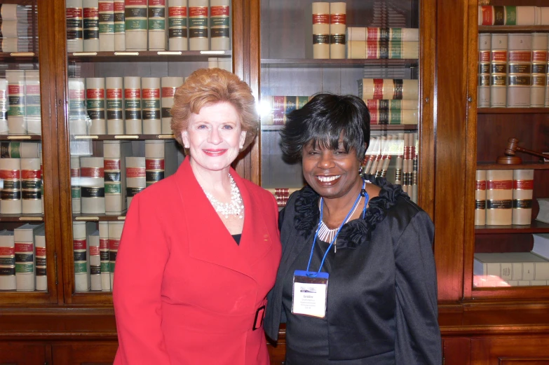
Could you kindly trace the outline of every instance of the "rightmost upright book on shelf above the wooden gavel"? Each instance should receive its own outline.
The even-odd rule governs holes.
[[[547,85],[548,34],[532,33],[532,66],[530,86],[530,107],[545,106],[545,86]]]

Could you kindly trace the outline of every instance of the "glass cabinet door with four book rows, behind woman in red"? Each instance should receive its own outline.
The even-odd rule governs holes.
[[[184,159],[170,127],[175,89],[199,68],[232,71],[235,7],[239,1],[65,0],[69,303],[111,302],[133,197]]]

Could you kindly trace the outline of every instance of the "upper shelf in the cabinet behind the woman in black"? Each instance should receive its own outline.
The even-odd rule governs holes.
[[[324,60],[318,58],[262,58],[270,67],[416,67],[419,60]]]

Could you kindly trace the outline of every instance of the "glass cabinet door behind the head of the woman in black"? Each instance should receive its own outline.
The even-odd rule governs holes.
[[[318,92],[361,97],[372,136],[362,172],[418,200],[419,1],[261,1],[261,184],[283,207],[304,186],[280,152],[285,115]]]

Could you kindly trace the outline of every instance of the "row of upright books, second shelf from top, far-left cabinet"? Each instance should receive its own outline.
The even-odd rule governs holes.
[[[0,135],[41,135],[39,70],[6,70],[0,79]]]

